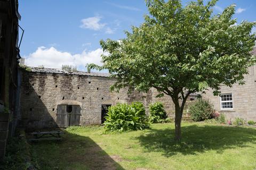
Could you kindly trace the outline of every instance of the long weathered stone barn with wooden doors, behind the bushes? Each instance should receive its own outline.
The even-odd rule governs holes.
[[[21,69],[21,123],[27,129],[66,128],[70,125],[102,124],[107,107],[117,103],[162,101],[169,116],[174,104],[169,96],[155,98],[156,89],[146,94],[127,89],[110,92],[115,79],[108,73],[67,72],[29,67]],[[21,126],[22,126],[21,124]]]

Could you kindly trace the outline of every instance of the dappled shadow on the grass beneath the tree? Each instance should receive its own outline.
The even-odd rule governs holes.
[[[159,151],[170,157],[178,153],[193,155],[207,150],[222,153],[225,149],[250,147],[249,143],[256,143],[256,129],[217,126],[217,125],[189,125],[183,126],[182,140],[174,141],[174,129],[151,129],[148,133],[135,138],[148,152]]]

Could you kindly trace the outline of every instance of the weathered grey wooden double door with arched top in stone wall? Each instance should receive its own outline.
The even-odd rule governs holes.
[[[80,123],[81,107],[79,105],[58,105],[57,125],[59,128],[78,126]]]

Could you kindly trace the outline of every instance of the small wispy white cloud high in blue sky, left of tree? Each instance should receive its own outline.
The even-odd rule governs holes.
[[[100,23],[100,16],[94,16],[90,18],[82,19],[82,25],[80,25],[81,28],[85,29],[91,29],[91,30],[101,30],[105,27],[106,23]]]

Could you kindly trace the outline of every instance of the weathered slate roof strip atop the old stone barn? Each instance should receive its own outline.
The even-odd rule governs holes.
[[[52,68],[40,68],[40,67],[29,67],[31,72],[39,72],[39,73],[55,73],[55,74],[74,74],[74,75],[89,75],[96,77],[109,77],[109,73],[98,73],[98,72],[68,72],[61,69],[52,69]]]

